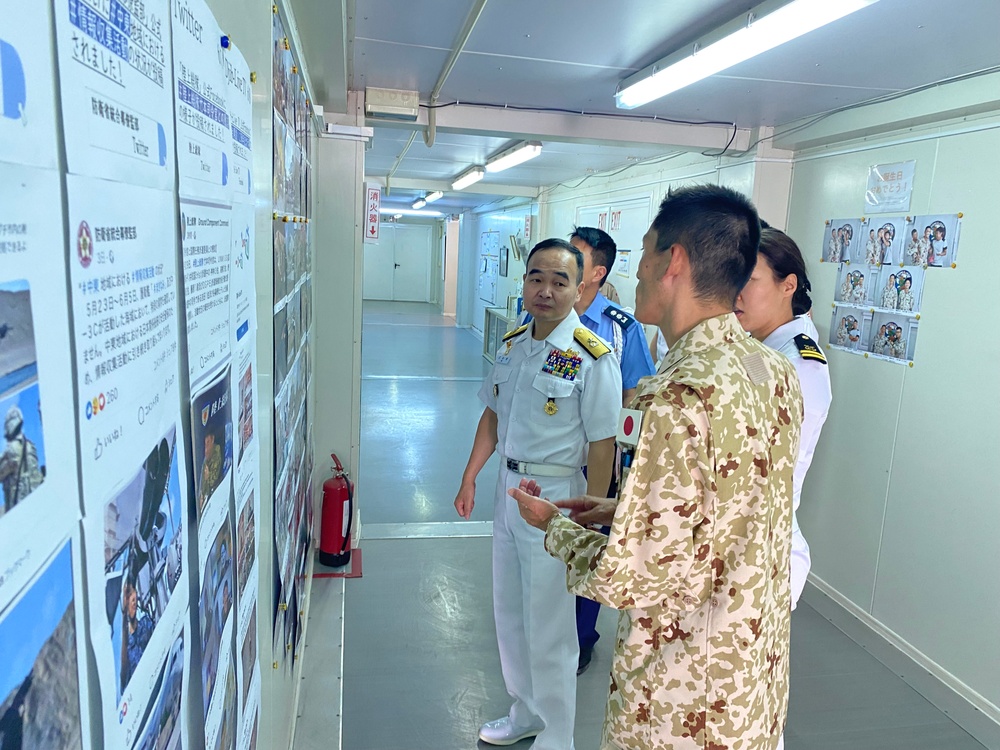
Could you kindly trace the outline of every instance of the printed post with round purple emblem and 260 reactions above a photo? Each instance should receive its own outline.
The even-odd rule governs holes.
[[[132,747],[187,618],[176,204],[76,175],[67,199],[90,633],[105,742]]]

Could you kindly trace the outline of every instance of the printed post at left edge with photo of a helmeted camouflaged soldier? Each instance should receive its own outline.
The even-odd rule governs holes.
[[[62,191],[56,172],[0,181],[0,600],[20,591],[80,517]],[[0,695],[2,701],[4,695]]]

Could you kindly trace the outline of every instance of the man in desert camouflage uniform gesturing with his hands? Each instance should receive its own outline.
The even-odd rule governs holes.
[[[621,610],[602,748],[774,750],[788,690],[792,471],[802,394],[732,314],[757,258],[727,188],[664,199],[643,238],[636,317],[669,351],[639,384],[634,461],[613,500],[511,490],[569,589]],[[526,490],[526,491],[524,491]]]

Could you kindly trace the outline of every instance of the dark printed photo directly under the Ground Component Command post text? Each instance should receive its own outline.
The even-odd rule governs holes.
[[[215,382],[194,397],[191,404],[194,489],[198,498],[199,521],[213,493],[220,486],[227,490],[229,487],[229,482],[224,482],[233,465],[229,375],[230,369],[226,367]]]

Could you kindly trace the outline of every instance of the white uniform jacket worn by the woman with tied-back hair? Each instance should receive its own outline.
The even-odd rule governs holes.
[[[830,412],[833,393],[830,389],[830,368],[825,361],[805,358],[795,343],[795,337],[805,334],[816,343],[816,326],[807,315],[799,316],[783,326],[779,326],[764,339],[764,346],[784,354],[795,367],[802,386],[802,405],[805,416],[802,419],[802,433],[799,438],[799,455],[795,461],[792,477],[792,608],[802,594],[806,577],[809,575],[809,544],[806,542],[796,511],[802,498],[802,483],[812,464],[820,431]],[[816,344],[819,349],[819,344]],[[822,353],[822,350],[820,349]]]

